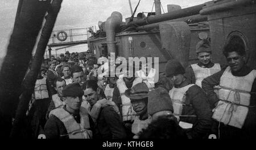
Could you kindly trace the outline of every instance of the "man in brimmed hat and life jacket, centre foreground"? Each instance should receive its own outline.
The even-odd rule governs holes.
[[[132,88],[125,91],[125,96],[130,98],[131,105],[133,106],[132,109],[136,113],[131,126],[134,139],[137,139],[137,134],[142,131],[143,128],[147,128],[148,124],[151,122],[151,117],[147,113],[148,92],[149,90],[146,83],[135,84]]]

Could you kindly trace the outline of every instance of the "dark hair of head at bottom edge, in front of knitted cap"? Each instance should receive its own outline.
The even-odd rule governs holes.
[[[184,130],[174,119],[167,116],[160,116],[152,121],[138,135],[139,139],[187,139]]]

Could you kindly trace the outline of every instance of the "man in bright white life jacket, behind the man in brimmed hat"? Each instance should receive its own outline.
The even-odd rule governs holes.
[[[148,59],[146,59],[146,62],[140,64],[141,70],[137,71],[135,76],[141,78],[142,82],[146,83],[148,89],[151,91],[155,88],[155,83],[158,82],[158,72],[156,72],[155,68],[152,68],[152,61]]]

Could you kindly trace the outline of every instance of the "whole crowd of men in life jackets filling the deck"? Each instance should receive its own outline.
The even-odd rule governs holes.
[[[168,61],[159,80],[147,64],[135,72],[129,63],[127,70],[107,79],[96,74],[100,67],[95,62],[84,69],[63,65],[64,76],[51,83],[56,93],[48,90],[46,138],[254,138],[256,70],[246,66],[245,48],[227,44],[225,67],[211,61],[208,40],[197,44],[196,53],[199,63],[187,68],[178,60]],[[117,67],[110,61],[100,65]],[[47,78],[58,75],[55,68],[49,66]],[[47,90],[42,87],[40,100]]]

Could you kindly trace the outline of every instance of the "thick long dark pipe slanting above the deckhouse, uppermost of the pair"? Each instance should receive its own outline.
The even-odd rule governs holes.
[[[167,20],[182,18],[185,16],[197,15],[197,14],[199,14],[199,11],[203,7],[204,7],[204,4],[196,5],[193,7],[188,7],[188,8],[184,8],[181,10],[168,12],[166,14],[162,14],[162,15],[158,15],[158,16],[149,16],[146,19],[139,19],[132,23],[136,24],[138,26],[141,26],[141,25],[146,25],[146,24],[152,24],[152,23],[158,23],[158,22],[164,22]]]

